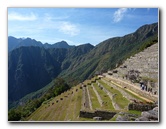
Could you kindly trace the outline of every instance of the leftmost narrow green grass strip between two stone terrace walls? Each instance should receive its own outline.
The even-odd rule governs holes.
[[[93,109],[100,109],[101,106],[100,106],[100,103],[97,99],[97,96],[96,96],[93,88],[91,86],[88,86],[88,89],[89,89],[90,99],[91,99],[91,102],[92,102],[92,108]]]

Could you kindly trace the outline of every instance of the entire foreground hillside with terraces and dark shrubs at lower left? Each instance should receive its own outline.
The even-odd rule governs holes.
[[[158,120],[158,110],[155,110],[158,109],[158,105],[156,105],[158,103],[158,85],[155,85],[158,84],[158,45],[158,43],[155,43],[127,59],[116,69],[103,73],[102,79],[96,76],[90,80],[85,80],[82,82],[85,87],[79,84],[69,88],[64,80],[56,78],[37,92],[20,99],[18,103],[21,106],[9,110],[8,120],[95,121],[94,116],[97,115],[102,117],[101,120],[104,121],[134,121],[136,119],[137,121],[152,121],[152,117],[149,117],[151,115],[153,120],[156,121]],[[139,71],[140,76],[138,72],[135,75],[133,72],[131,74],[131,71]],[[129,73],[130,76],[124,76],[129,75]],[[151,87],[152,91],[142,91],[138,83],[140,81],[135,80],[139,79],[141,75],[144,77],[141,82],[148,87],[147,89]],[[129,83],[130,81],[132,83]],[[150,83],[147,83],[147,81]],[[97,85],[98,83],[100,85]],[[101,88],[104,90],[102,91]],[[150,92],[155,94],[150,94]],[[97,97],[95,93],[100,97]],[[104,104],[100,104],[101,100]],[[133,104],[135,106],[132,106]],[[136,106],[137,104],[138,106]],[[153,112],[151,109],[153,109]],[[98,110],[102,113],[95,115]],[[115,113],[110,115],[109,110],[111,110],[111,113]],[[141,115],[147,110],[149,110],[148,116]],[[142,119],[143,117],[144,119]]]

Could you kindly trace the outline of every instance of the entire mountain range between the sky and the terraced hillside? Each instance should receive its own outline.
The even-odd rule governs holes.
[[[79,83],[119,66],[128,57],[158,40],[158,23],[134,33],[107,39],[97,46],[70,46],[65,41],[49,45],[27,38],[8,37],[9,103],[43,88],[56,77]]]

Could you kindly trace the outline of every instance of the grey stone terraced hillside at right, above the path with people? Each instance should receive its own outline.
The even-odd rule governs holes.
[[[139,76],[142,78],[147,78],[153,80],[154,83],[148,83],[147,85],[153,88],[153,92],[157,91],[158,94],[158,75],[159,75],[159,44],[156,43],[144,51],[135,54],[133,57],[128,58],[121,66],[118,68],[108,71],[115,78],[120,78],[126,80],[126,75],[129,71],[138,71]],[[116,71],[116,72],[114,72]],[[139,86],[139,84],[136,84]]]

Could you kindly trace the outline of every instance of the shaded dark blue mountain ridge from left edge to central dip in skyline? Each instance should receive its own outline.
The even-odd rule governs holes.
[[[8,56],[9,102],[44,87],[70,66],[69,62],[63,62],[72,62],[77,54],[79,58],[91,49],[90,44],[70,49],[34,46],[14,49]]]

